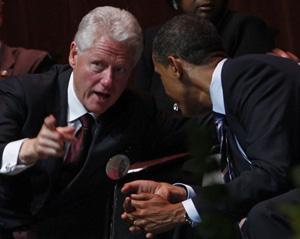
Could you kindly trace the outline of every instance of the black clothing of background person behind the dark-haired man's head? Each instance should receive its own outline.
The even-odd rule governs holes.
[[[227,11],[215,23],[229,57],[250,53],[265,53],[275,47],[275,31],[258,17]],[[152,62],[152,42],[160,26],[146,29],[144,51],[137,67],[135,86],[150,92],[159,109],[172,112],[173,100],[166,95],[161,79],[154,72]]]

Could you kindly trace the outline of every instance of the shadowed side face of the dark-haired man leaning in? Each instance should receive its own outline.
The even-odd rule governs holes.
[[[178,105],[185,116],[196,116],[211,108],[210,96],[199,87],[188,83],[188,74],[179,73],[175,66],[162,65],[153,59],[156,73],[160,75],[166,94]],[[185,78],[185,79],[183,79]]]

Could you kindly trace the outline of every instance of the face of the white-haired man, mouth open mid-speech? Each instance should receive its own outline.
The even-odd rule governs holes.
[[[72,42],[69,63],[78,99],[96,115],[104,113],[118,100],[134,66],[131,48],[104,37],[83,51]]]

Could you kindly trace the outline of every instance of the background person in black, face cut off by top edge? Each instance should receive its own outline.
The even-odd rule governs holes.
[[[229,0],[174,0],[179,10],[210,20],[222,38],[229,57],[266,53],[275,47],[275,31],[261,18],[228,8]],[[154,71],[152,42],[160,26],[146,29],[144,51],[137,65],[135,86],[152,94],[161,110],[173,112],[174,101],[165,93],[161,79]],[[176,109],[176,108],[175,108]]]

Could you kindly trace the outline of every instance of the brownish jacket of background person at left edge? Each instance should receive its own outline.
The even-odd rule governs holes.
[[[52,59],[45,51],[9,47],[2,42],[0,48],[0,71],[8,71],[9,76],[39,73],[53,65]]]

